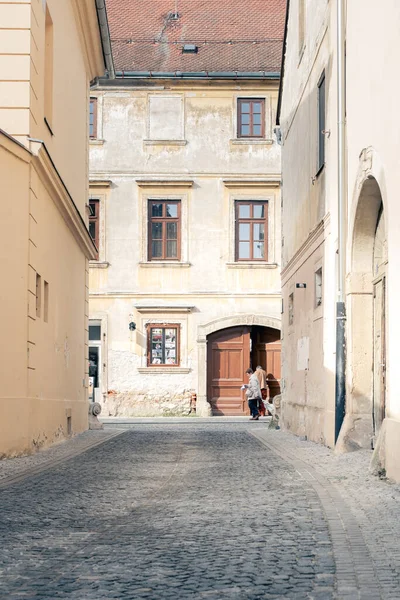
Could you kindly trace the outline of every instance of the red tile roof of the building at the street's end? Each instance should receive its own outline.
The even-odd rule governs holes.
[[[117,71],[280,71],[286,0],[178,0],[177,20],[175,0],[106,4]]]

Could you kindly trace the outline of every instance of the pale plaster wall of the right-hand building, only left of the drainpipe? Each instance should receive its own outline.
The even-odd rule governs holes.
[[[335,10],[328,0],[306,0],[303,52],[298,4],[288,24],[281,128],[284,415],[286,427],[334,444],[335,277],[337,245]],[[318,174],[318,82],[325,71],[325,167]],[[323,269],[322,306],[315,308],[315,271]],[[306,283],[306,288],[296,288]],[[289,295],[294,322],[288,323]],[[304,341],[308,340],[308,368]],[[300,344],[300,346],[299,346]],[[299,349],[300,354],[299,354]]]

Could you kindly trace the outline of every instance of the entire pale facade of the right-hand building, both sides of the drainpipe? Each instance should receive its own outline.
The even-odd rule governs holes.
[[[400,7],[347,3],[346,416],[337,448],[375,447],[400,480],[396,392],[399,253],[398,111],[393,82]],[[280,123],[283,138],[283,351],[286,427],[334,439],[337,290],[337,2],[291,2]],[[371,44],[371,39],[374,43]],[[319,169],[318,86],[325,74],[325,160]],[[394,84],[396,88],[396,84]],[[302,152],[299,153],[299,148]],[[318,298],[322,268],[322,296]],[[305,283],[306,288],[296,287]]]

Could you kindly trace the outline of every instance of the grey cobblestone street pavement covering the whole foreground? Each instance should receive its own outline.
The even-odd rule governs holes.
[[[400,488],[364,453],[260,422],[112,433],[24,479],[7,467],[1,598],[400,598]]]

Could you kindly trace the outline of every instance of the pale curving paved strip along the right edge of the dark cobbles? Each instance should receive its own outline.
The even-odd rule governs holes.
[[[293,465],[316,491],[325,511],[336,563],[340,600],[382,600],[383,593],[361,529],[335,487],[318,471],[287,449],[271,432],[249,431],[264,446]]]

